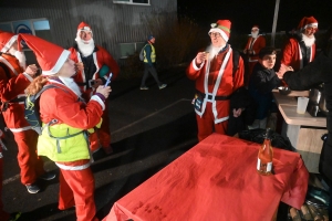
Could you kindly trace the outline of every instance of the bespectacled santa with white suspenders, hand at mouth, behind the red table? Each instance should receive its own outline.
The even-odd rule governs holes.
[[[239,57],[234,72],[234,51],[227,43],[231,22],[218,20],[208,32],[211,45],[206,52],[198,52],[186,74],[196,83],[196,95],[193,101],[198,125],[198,140],[205,139],[214,131],[226,134],[229,114],[235,117],[241,108],[230,113],[230,95],[243,86],[243,60]]]

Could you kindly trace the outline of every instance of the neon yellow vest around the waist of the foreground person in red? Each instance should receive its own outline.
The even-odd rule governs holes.
[[[45,126],[38,138],[38,155],[53,161],[90,159],[87,135],[66,124]]]

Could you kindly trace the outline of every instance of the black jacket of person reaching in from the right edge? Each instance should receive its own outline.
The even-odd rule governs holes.
[[[321,152],[320,172],[332,181],[332,42],[331,46],[322,51],[313,62],[298,72],[287,72],[283,80],[291,90],[310,90],[317,84],[324,83],[326,108],[328,139]]]

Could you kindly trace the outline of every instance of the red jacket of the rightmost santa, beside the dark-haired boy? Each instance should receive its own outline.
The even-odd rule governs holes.
[[[309,62],[312,62],[315,56],[315,44],[311,46],[311,54]],[[287,66],[292,66],[294,71],[299,71],[303,67],[302,53],[299,41],[294,38],[290,38],[282,50],[281,63]]]

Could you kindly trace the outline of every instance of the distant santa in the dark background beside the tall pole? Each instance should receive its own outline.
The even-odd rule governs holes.
[[[266,38],[259,34],[259,27],[253,25],[251,28],[251,36],[248,39],[243,54],[248,55],[248,73],[246,76],[246,83],[249,83],[250,75],[253,66],[258,63],[258,54],[262,48],[266,46]]]

